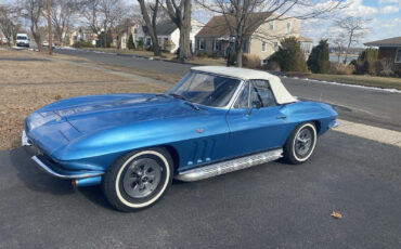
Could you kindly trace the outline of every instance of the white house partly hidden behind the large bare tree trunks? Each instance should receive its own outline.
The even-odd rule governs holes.
[[[192,52],[195,52],[195,36],[203,26],[203,23],[192,18],[190,34]],[[170,19],[161,21],[156,25],[156,32],[160,48],[169,53],[176,53],[180,44],[180,29],[177,25]],[[143,36],[144,45],[152,45],[152,39],[147,35],[146,27],[143,27],[142,34],[138,34],[138,39],[141,39],[141,35]],[[135,41],[138,41],[138,39],[135,39]]]

